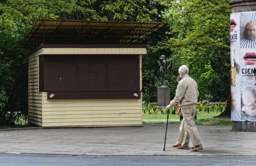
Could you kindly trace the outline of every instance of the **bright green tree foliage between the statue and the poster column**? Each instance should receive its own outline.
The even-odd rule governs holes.
[[[224,101],[230,87],[229,0],[167,0],[164,18],[172,37],[160,43],[186,64],[198,82],[200,100]]]

